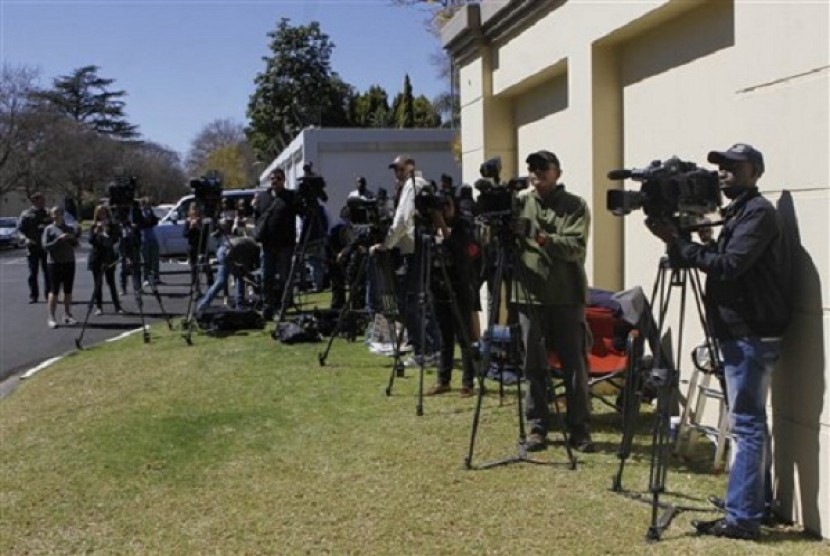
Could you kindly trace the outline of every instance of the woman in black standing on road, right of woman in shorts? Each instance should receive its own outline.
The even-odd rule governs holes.
[[[94,289],[92,298],[95,301],[95,314],[104,312],[103,287],[104,278],[110,289],[112,304],[116,313],[123,313],[118,300],[118,291],[115,289],[115,263],[118,260],[115,254],[115,244],[120,237],[118,226],[112,221],[112,215],[107,207],[98,205],[92,217],[92,228],[89,231],[89,244],[92,252],[89,254],[87,268],[92,272]]]

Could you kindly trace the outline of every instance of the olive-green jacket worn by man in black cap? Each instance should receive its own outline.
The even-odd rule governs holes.
[[[585,304],[585,252],[591,213],[585,201],[558,184],[541,196],[535,188],[516,197],[518,217],[530,224],[518,238],[520,258],[511,301],[521,304]],[[521,220],[520,220],[521,221]],[[542,245],[537,241],[541,237]]]

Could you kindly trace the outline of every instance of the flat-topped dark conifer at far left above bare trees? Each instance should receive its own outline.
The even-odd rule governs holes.
[[[51,90],[36,96],[75,122],[114,139],[139,136],[138,126],[127,122],[124,114],[125,91],[109,90],[115,80],[98,76],[98,66],[84,66],[53,81]]]

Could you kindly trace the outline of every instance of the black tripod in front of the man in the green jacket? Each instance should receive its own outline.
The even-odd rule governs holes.
[[[518,257],[516,255],[516,250],[518,248],[516,244],[516,238],[513,232],[510,230],[509,222],[506,221],[507,217],[500,217],[499,221],[494,223],[494,227],[496,230],[496,242],[498,246],[497,255],[496,255],[496,265],[495,270],[492,275],[491,281],[488,282],[490,285],[490,296],[489,302],[487,306],[487,328],[486,331],[491,337],[491,341],[485,342],[484,344],[484,352],[481,354],[481,362],[478,372],[478,380],[479,380],[479,390],[478,390],[478,399],[476,400],[476,409],[475,413],[473,414],[473,427],[472,431],[470,432],[470,448],[467,452],[467,457],[464,458],[464,466],[467,469],[472,469],[473,466],[473,450],[475,448],[475,440],[476,435],[478,434],[478,426],[479,421],[481,419],[481,405],[482,400],[484,397],[484,378],[487,374],[487,371],[490,369],[490,361],[492,359],[493,353],[493,331],[496,327],[496,322],[498,321],[498,314],[501,308],[501,288],[502,284],[507,285],[509,287],[509,280],[507,276],[508,268],[515,270],[517,273],[521,272],[521,266],[517,264]],[[522,276],[513,276],[513,279],[518,279],[520,287],[524,288],[525,282],[521,280]],[[528,298],[527,290],[524,289],[524,296],[525,299]],[[511,327],[511,333],[515,331],[517,327]],[[515,341],[511,339],[511,341]],[[516,359],[518,350],[509,350],[509,356],[512,356]],[[514,366],[516,369],[520,369],[522,367],[521,361],[514,361]],[[477,469],[488,469],[490,467],[496,467],[499,465],[507,465],[510,463],[534,463],[539,465],[555,465],[556,462],[552,461],[542,461],[530,458],[527,455],[527,434],[525,430],[525,423],[524,423],[524,411],[523,411],[523,404],[522,404],[522,379],[523,377],[519,376],[518,380],[516,381],[516,412],[518,417],[518,430],[519,430],[519,439],[518,439],[518,453],[515,456],[510,456],[501,460],[493,461],[490,463],[485,463],[482,465],[477,466]],[[565,430],[564,426],[562,426],[562,419],[559,411],[559,405],[554,401],[554,414],[555,420],[557,423],[560,424],[562,437],[564,439],[565,444],[565,451],[568,454],[568,467],[570,469],[576,469],[576,458],[573,455],[573,451],[571,450],[571,446],[568,442],[568,433]]]

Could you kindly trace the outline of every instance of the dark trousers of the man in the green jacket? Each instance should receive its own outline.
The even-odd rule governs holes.
[[[525,348],[527,424],[531,433],[546,435],[552,423],[548,385],[548,351],[555,349],[562,361],[565,424],[574,440],[589,436],[591,398],[585,355],[585,307],[583,305],[518,305],[519,325]]]

